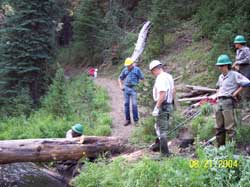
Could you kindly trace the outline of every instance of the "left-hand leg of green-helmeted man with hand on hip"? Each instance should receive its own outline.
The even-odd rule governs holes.
[[[225,145],[226,141],[224,117],[220,106],[217,106],[215,116],[216,116],[216,141],[219,147],[221,145]]]

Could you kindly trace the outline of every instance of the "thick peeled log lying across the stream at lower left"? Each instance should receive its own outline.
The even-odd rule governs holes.
[[[119,153],[124,142],[116,137],[85,136],[80,138],[22,139],[0,141],[0,164],[78,160],[96,157],[100,153]]]

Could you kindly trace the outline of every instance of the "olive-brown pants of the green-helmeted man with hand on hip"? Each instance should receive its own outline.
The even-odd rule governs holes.
[[[218,146],[225,145],[226,135],[229,140],[235,137],[234,101],[230,98],[219,99],[216,106],[216,140]]]

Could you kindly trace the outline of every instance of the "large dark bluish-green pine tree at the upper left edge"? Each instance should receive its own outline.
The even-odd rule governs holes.
[[[23,89],[37,102],[55,53],[56,3],[15,0],[10,5],[14,15],[6,19],[0,46],[0,104],[8,104]]]

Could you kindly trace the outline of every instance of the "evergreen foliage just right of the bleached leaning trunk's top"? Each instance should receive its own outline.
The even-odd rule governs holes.
[[[148,49],[150,57],[158,56],[166,49],[167,35],[174,32],[183,20],[187,20],[195,14],[199,2],[199,0],[152,0],[149,15],[149,19],[153,23]],[[149,1],[148,5],[150,3]],[[145,4],[144,2],[144,6]]]

